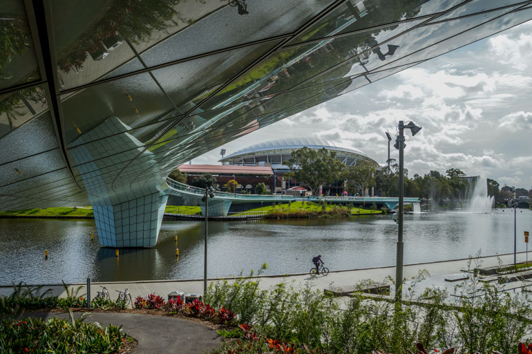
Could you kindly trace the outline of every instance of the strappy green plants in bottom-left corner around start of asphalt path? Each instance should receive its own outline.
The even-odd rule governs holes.
[[[83,298],[68,291],[66,298],[39,294],[39,287],[19,284],[8,297],[0,297],[0,353],[130,353],[134,341],[120,327],[85,322],[85,315],[74,319],[70,307],[83,304]],[[79,290],[79,289],[78,289]],[[85,300],[86,306],[86,300]],[[60,307],[68,319],[22,318],[26,309]],[[133,345],[133,348],[135,345]]]

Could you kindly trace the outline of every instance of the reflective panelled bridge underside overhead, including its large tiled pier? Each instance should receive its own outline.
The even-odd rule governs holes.
[[[0,209],[152,247],[178,165],[532,18],[512,0],[8,0]]]

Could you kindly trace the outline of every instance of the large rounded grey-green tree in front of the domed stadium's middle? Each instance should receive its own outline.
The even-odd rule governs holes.
[[[292,152],[292,158],[287,161],[292,172],[290,178],[307,185],[312,194],[317,195],[319,187],[339,180],[344,165],[336,160],[336,153],[325,148],[319,150],[303,147]]]

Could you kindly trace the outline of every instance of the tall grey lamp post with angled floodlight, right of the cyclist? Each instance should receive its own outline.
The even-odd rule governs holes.
[[[397,254],[395,265],[395,301],[400,301],[402,298],[403,288],[403,200],[404,200],[404,161],[403,150],[406,147],[404,143],[404,129],[410,129],[412,136],[415,136],[421,127],[417,127],[413,122],[408,122],[406,125],[402,120],[399,120],[397,130],[399,135],[395,139],[395,149],[399,149],[399,211],[397,212]]]

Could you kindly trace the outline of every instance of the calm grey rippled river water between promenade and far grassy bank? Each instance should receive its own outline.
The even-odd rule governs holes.
[[[0,284],[194,279],[203,277],[203,224],[163,221],[156,248],[115,250],[91,243],[93,220],[0,219]],[[517,209],[517,250],[532,212]],[[175,259],[178,235],[180,258]],[[307,272],[321,254],[330,270],[395,264],[397,225],[390,216],[344,219],[209,222],[209,277],[249,272]],[[513,210],[491,214],[428,212],[405,215],[405,263],[513,252]],[[531,247],[532,248],[532,247]],[[44,250],[49,252],[44,260]]]

